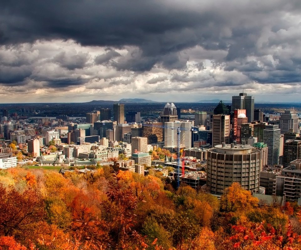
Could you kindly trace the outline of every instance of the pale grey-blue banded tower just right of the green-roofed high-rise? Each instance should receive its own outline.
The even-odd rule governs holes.
[[[255,127],[255,125],[254,125]],[[279,164],[280,154],[280,128],[279,125],[266,125],[263,130],[263,142],[267,144],[267,164]]]

